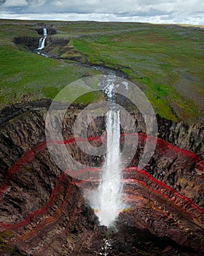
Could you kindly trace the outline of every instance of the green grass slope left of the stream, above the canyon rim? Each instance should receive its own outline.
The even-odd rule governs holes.
[[[12,45],[0,48],[0,106],[23,100],[55,98],[69,83],[95,70],[73,67],[66,62],[47,59],[17,50]]]

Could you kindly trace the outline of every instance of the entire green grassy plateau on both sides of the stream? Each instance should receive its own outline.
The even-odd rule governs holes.
[[[56,31],[44,52],[60,60],[38,56],[12,42],[14,37],[40,37],[35,29],[44,24]],[[148,23],[1,20],[1,107],[24,99],[53,98],[71,81],[98,73],[74,66],[77,60],[125,72],[160,116],[202,123],[203,33],[200,27]]]

